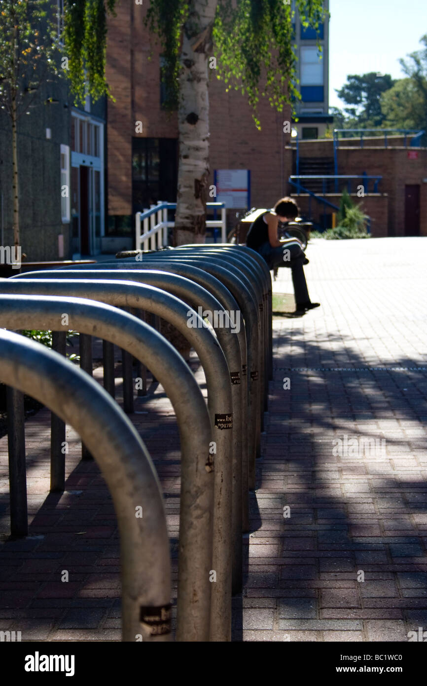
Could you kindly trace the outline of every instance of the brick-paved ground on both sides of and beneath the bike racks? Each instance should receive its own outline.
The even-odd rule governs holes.
[[[310,295],[322,307],[274,320],[268,430],[234,640],[406,641],[409,630],[427,628],[427,241],[315,241],[308,256]],[[291,292],[289,277],[282,270],[276,292]],[[136,410],[166,495],[174,554],[173,410],[160,386]],[[49,495],[49,412],[25,427],[30,536],[0,543],[0,630],[21,630],[23,640],[117,641],[119,540],[106,486],[95,464],[80,462],[69,429],[66,493]],[[361,438],[377,439],[376,449]],[[2,438],[2,541],[7,474]]]

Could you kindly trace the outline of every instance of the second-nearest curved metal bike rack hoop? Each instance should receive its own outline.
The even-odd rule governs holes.
[[[1,286],[13,283],[5,279]],[[40,292],[42,284],[22,283],[32,292]],[[59,287],[56,282],[54,286]],[[88,287],[84,281],[78,285]],[[90,285],[90,284],[89,284]],[[93,284],[94,289],[96,283]],[[114,283],[114,288],[121,284]],[[140,288],[141,289],[141,288]],[[151,289],[154,292],[155,289]],[[21,291],[22,292],[22,291]],[[101,289],[102,292],[102,289]],[[164,301],[168,294],[160,292]],[[172,298],[173,296],[169,296]],[[147,298],[148,300],[148,298]],[[174,298],[178,301],[178,298]],[[179,301],[178,301],[179,302]],[[133,304],[133,303],[131,303]],[[160,383],[171,399],[180,427],[182,447],[180,559],[178,569],[178,640],[208,640],[210,591],[209,573],[212,569],[212,508],[214,457],[209,453],[211,428],[202,392],[193,373],[175,349],[154,329],[116,307],[95,303],[85,298],[25,295],[0,296],[0,326],[8,327],[21,319],[31,328],[51,328],[58,312],[69,313],[73,329],[97,333],[101,338],[125,348],[139,357],[149,368],[156,369]],[[182,304],[183,305],[183,304]],[[185,305],[183,305],[185,309]],[[195,329],[201,336],[210,335],[208,329]],[[206,335],[205,335],[206,338]],[[219,346],[217,345],[219,349]],[[216,360],[215,360],[216,362]],[[212,363],[214,364],[214,363]],[[88,376],[86,375],[86,378]],[[94,382],[96,386],[98,384]],[[101,389],[103,391],[103,389]],[[108,399],[114,405],[114,401]],[[68,401],[68,397],[67,397]],[[58,414],[60,414],[58,412]],[[82,439],[84,439],[84,435]],[[88,445],[90,449],[90,445]],[[118,446],[120,450],[120,445]],[[230,457],[228,456],[230,462]],[[229,572],[230,578],[230,572]],[[230,578],[231,582],[231,578]],[[217,622],[223,617],[217,617]]]

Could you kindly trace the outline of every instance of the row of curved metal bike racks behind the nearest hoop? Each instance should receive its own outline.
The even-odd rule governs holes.
[[[215,334],[199,316],[200,309],[220,315],[212,321]],[[195,349],[206,378],[208,407],[181,355],[141,319],[145,312],[173,324]],[[239,329],[235,326],[236,317],[230,318],[230,313],[237,312],[239,317],[241,314]],[[68,315],[66,327],[60,324],[64,313]],[[127,423],[123,410],[112,399],[113,345],[122,350],[123,405],[127,412],[133,411],[132,357],[149,368],[162,384],[178,421],[182,451],[176,639],[229,641],[231,596],[242,587],[242,533],[249,530],[249,489],[255,487],[256,457],[260,456],[260,432],[272,372],[271,277],[267,265],[249,248],[197,245],[138,253],[130,258],[90,264],[88,268],[75,265],[73,269],[18,274],[0,280],[0,327],[56,332],[56,352],[43,350],[43,354],[49,353],[49,359],[65,365],[70,374],[78,372],[77,379],[84,377],[90,388],[96,386],[98,395],[114,406]],[[104,388],[64,359],[68,329],[80,333],[80,364],[89,375],[91,337],[103,340]],[[27,344],[23,337],[10,335]],[[34,350],[42,348],[30,343]],[[10,377],[5,383],[17,389],[8,390],[10,510],[12,534],[22,536],[27,534],[23,403],[19,397],[22,392],[37,397],[55,412],[51,425],[51,490],[64,489],[65,456],[60,447],[65,422],[79,431],[84,446],[82,456],[93,456],[103,473],[104,470],[96,441],[87,440],[73,421],[74,404],[68,403],[69,393],[62,397],[60,412],[56,404],[52,407],[28,386],[17,386]],[[120,451],[121,437],[116,436],[115,442]],[[147,461],[144,447],[143,454]],[[154,469],[150,460],[149,466]],[[117,487],[115,482],[114,488]],[[113,491],[112,498],[116,506]],[[138,504],[143,506],[142,501]],[[143,512],[146,509],[144,501]],[[134,513],[127,516],[136,519]],[[165,527],[164,510],[158,516]],[[136,519],[136,528],[142,521]],[[125,580],[131,583],[128,568],[132,565],[128,559],[133,560],[132,556],[141,552],[129,549],[120,525],[119,528],[123,640],[134,641],[141,633],[144,640],[168,640],[169,600],[141,604],[136,595],[128,594],[127,598],[125,594]],[[216,572],[213,583],[212,570]],[[143,584],[149,589],[151,574]],[[145,610],[136,611],[136,606]],[[151,608],[151,620],[147,608]],[[146,620],[143,630],[141,618]]]

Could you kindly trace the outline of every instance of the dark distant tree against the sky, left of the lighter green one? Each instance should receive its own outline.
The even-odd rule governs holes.
[[[338,97],[347,105],[344,113],[354,120],[354,128],[379,128],[385,119],[381,109],[381,96],[395,84],[390,74],[371,71],[350,74],[347,82],[337,90]],[[348,127],[350,128],[350,127]]]

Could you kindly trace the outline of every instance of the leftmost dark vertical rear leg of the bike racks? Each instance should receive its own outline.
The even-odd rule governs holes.
[[[3,331],[0,331],[0,337],[3,333]],[[19,338],[23,338],[23,336],[20,336]],[[5,381],[5,383],[7,382]],[[7,386],[6,399],[8,406],[10,533],[12,536],[27,536],[28,516],[24,397],[16,388]]]

